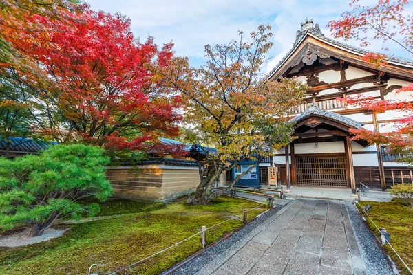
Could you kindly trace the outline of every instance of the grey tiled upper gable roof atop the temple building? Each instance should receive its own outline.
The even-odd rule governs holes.
[[[357,52],[359,54],[368,54],[370,51],[362,49],[361,47],[354,47],[352,45],[348,45],[346,43],[342,43],[339,42],[335,39],[330,39],[326,36],[324,36],[323,32],[321,32],[319,25],[315,24],[313,25],[313,19],[311,21],[306,21],[306,23],[308,23],[310,25],[310,28],[307,28],[306,30],[298,30],[297,31],[297,36],[295,37],[295,42],[293,44],[293,47],[291,47],[291,49],[288,51],[288,53],[282,58],[281,61],[279,61],[279,63],[274,67],[274,69],[271,70],[271,72],[268,74],[268,78],[270,78],[276,71],[277,69],[279,69],[279,67],[281,67],[281,65],[284,63],[284,61],[286,61],[286,59],[288,58],[288,56],[290,56],[290,54],[292,52],[294,52],[295,47],[297,47],[297,45],[299,45],[299,43],[301,43],[301,41],[304,39],[304,37],[307,34],[313,34],[313,36],[316,36],[317,38],[326,41],[328,43],[337,45],[339,47],[343,47],[347,50],[350,50],[352,52]],[[303,23],[301,23],[301,26],[304,25]],[[401,58],[401,57],[397,57],[397,56],[387,56],[385,58],[386,61],[390,61],[393,63],[398,63],[400,65],[413,65],[413,61],[407,58]]]

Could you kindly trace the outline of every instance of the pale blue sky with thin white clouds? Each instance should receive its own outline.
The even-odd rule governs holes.
[[[188,56],[194,67],[204,64],[204,46],[227,44],[237,39],[238,31],[249,34],[259,25],[271,25],[274,46],[269,52],[265,70],[270,72],[290,50],[295,41],[300,23],[306,18],[314,19],[325,36],[331,37],[326,27],[331,20],[350,10],[348,0],[89,0],[92,10],[120,12],[131,19],[132,30],[141,40],[153,36],[158,45],[175,44],[176,55]],[[377,0],[363,0],[366,5]],[[357,41],[348,41],[359,46]],[[373,41],[368,50],[390,52],[411,58],[398,46]]]

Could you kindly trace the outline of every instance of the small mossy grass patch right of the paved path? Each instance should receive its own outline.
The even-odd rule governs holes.
[[[370,204],[372,206],[371,212],[368,215],[376,223],[379,228],[385,228],[390,233],[390,243],[393,248],[399,253],[403,261],[412,268],[413,267],[413,210],[394,200],[390,202],[376,202],[376,201],[361,201],[362,206]],[[357,205],[360,209],[360,206]],[[360,209],[362,212],[362,210]],[[379,230],[374,227],[372,222],[367,219],[367,224],[378,237]],[[385,250],[392,257],[396,263],[401,274],[410,274],[403,263],[394,254],[389,245],[384,245]]]

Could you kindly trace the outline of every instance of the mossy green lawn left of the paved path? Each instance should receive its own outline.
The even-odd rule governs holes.
[[[212,243],[242,225],[243,209],[260,205],[229,197],[214,199],[207,206],[189,206],[185,199],[172,203],[124,202],[126,206],[120,201],[108,201],[108,207],[102,207],[103,213],[131,213],[130,207],[136,210],[136,215],[74,224],[58,239],[21,248],[2,248],[1,274],[87,274],[92,263],[100,266],[100,274],[109,274],[186,239],[202,225],[209,227],[229,217],[239,217],[208,230],[207,242]],[[151,207],[154,208],[142,211]],[[266,209],[262,206],[248,212],[248,219]],[[195,236],[120,274],[159,274],[201,248],[200,236]]]

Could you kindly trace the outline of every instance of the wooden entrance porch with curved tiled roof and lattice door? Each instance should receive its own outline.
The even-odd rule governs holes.
[[[352,134],[350,129],[361,129],[363,124],[337,113],[310,106],[292,120],[295,122],[295,139],[284,148],[285,165],[279,165],[280,184],[351,188],[356,193]],[[335,153],[317,152],[319,144],[335,142],[340,150]],[[355,140],[368,146],[365,140]],[[311,153],[296,153],[298,144],[314,144]],[[331,151],[331,150],[330,150]],[[332,150],[334,152],[334,150]],[[381,160],[381,155],[380,157]],[[383,169],[383,162],[381,169]],[[384,184],[384,185],[383,185]],[[385,188],[385,183],[382,183]]]

